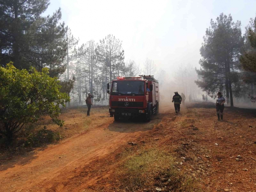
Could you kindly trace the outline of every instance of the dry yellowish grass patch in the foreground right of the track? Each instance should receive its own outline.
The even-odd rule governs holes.
[[[125,161],[117,171],[120,187],[128,191],[199,191],[194,179],[184,174],[175,158],[164,149],[132,150],[124,154]],[[146,190],[146,191],[147,191]]]

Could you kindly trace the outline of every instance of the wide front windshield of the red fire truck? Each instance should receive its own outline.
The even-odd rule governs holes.
[[[114,81],[111,95],[144,95],[144,81]]]

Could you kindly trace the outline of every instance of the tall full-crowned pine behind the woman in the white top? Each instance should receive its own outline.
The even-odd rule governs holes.
[[[231,15],[221,13],[216,22],[211,19],[211,26],[203,39],[201,68],[196,70],[200,80],[195,83],[212,97],[218,91],[225,92],[232,107],[233,90],[239,80],[239,56],[244,43],[241,22],[234,22]],[[236,91],[239,92],[239,89]]]

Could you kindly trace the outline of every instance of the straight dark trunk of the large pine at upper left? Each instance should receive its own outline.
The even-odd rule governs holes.
[[[18,30],[18,0],[14,0],[14,42],[13,42],[13,56],[14,56],[14,64],[16,67],[21,68],[19,63],[19,30]]]

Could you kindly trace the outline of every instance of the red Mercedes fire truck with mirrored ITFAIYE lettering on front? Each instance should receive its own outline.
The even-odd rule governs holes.
[[[117,77],[107,85],[109,113],[115,121],[139,116],[150,121],[151,116],[158,113],[159,84],[153,75]]]

